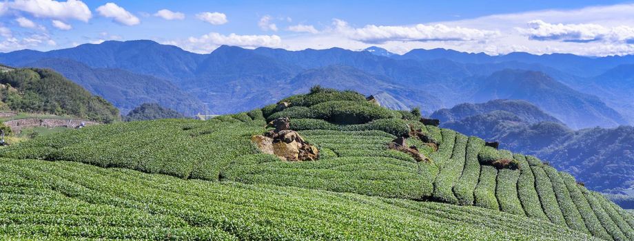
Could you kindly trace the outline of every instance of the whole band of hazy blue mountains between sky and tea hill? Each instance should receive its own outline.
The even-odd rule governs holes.
[[[205,108],[209,114],[233,113],[320,84],[376,94],[390,107],[420,106],[425,114],[458,103],[507,98],[529,101],[573,129],[634,121],[627,110],[631,101],[620,98],[629,90],[603,94],[620,83],[600,81],[614,73],[623,75],[620,80],[631,78],[633,73],[618,70],[626,69],[619,65],[634,63],[633,56],[488,56],[440,49],[398,55],[370,50],[222,46],[209,54],[194,54],[153,41],[106,41],[50,52],[0,54],[0,63],[51,67],[124,113],[147,102],[185,114],[207,112]],[[77,67],[80,64],[85,67]],[[597,81],[602,89],[592,87]],[[158,94],[164,89],[170,94]]]

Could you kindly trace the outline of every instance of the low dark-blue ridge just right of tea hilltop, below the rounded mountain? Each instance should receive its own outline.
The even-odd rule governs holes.
[[[521,100],[493,100],[487,103],[462,103],[451,109],[439,109],[431,114],[431,118],[437,118],[441,123],[459,121],[469,116],[476,116],[493,111],[510,112],[513,116],[526,123],[538,123],[550,121],[561,123],[557,118],[546,114],[540,107]]]

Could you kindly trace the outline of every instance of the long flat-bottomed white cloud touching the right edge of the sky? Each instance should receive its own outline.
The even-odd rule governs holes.
[[[606,28],[594,23],[552,24],[534,20],[529,21],[528,26],[529,28],[517,28],[517,30],[529,36],[530,39],[539,41],[628,42],[634,39],[634,28],[626,25]]]

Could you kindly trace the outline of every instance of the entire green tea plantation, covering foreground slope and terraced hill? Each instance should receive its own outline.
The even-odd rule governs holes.
[[[114,123],[0,149],[0,238],[634,240],[634,216],[533,156],[314,89],[210,121]],[[251,136],[289,117],[315,161]],[[431,162],[388,148],[407,138]],[[491,160],[509,160],[500,168]]]

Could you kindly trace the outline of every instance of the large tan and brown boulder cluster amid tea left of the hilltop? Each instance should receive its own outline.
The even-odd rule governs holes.
[[[307,143],[299,133],[289,129],[289,118],[277,118],[268,126],[275,127],[264,135],[251,137],[260,151],[278,156],[281,160],[317,160],[319,150]]]

